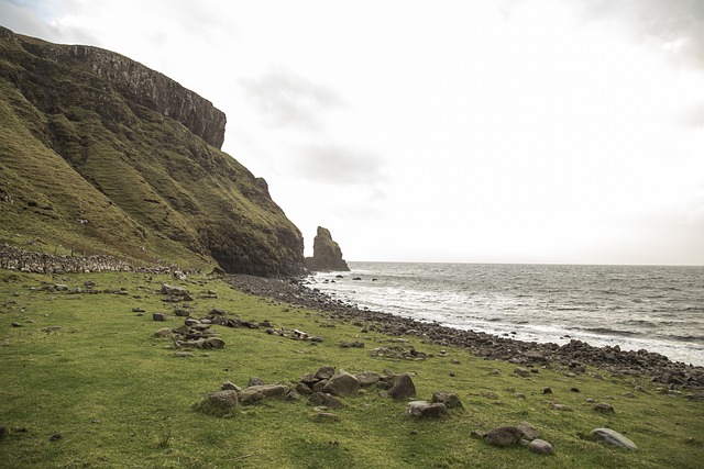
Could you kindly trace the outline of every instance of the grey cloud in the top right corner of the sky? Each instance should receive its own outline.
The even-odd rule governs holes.
[[[704,1],[583,0],[587,20],[619,21],[638,41],[667,46],[678,65],[704,69]]]

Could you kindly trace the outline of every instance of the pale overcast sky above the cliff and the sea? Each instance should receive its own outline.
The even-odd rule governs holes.
[[[704,0],[0,0],[226,112],[310,254],[704,265]]]

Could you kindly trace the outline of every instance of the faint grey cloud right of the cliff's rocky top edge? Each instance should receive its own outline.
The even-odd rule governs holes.
[[[242,79],[248,98],[270,126],[319,130],[320,114],[342,104],[334,91],[304,77],[275,69],[257,79]]]

